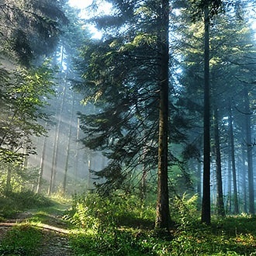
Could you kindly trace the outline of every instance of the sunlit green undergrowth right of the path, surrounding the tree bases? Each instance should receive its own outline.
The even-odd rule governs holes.
[[[232,216],[199,221],[196,197],[173,199],[175,227],[170,237],[154,231],[154,206],[135,196],[75,195],[67,220],[80,234],[71,237],[76,255],[256,255],[256,218]]]

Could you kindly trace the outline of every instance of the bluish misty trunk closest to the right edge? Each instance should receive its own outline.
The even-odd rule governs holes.
[[[248,90],[244,87],[244,108],[245,108],[245,133],[247,144],[247,171],[249,189],[249,213],[254,214],[254,172],[252,164],[252,143],[251,143],[251,115]]]

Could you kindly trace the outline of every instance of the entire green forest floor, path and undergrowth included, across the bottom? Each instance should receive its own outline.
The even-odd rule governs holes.
[[[0,197],[1,256],[256,256],[256,216],[213,216],[206,227],[182,215],[170,237],[154,230],[150,214],[141,218],[134,201],[104,204],[92,197],[89,208],[80,204],[74,215],[74,202],[20,194]],[[154,208],[144,213],[149,210]]]

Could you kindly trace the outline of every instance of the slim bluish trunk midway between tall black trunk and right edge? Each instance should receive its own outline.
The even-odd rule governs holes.
[[[231,155],[231,162],[232,162],[232,176],[233,176],[233,188],[234,188],[234,214],[239,213],[238,209],[238,196],[237,196],[237,171],[236,171],[236,161],[234,155],[234,130],[233,130],[233,116],[232,116],[232,109],[231,103],[229,106],[229,126],[230,126],[230,155]]]

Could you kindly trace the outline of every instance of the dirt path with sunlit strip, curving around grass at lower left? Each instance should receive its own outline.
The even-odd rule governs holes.
[[[29,219],[31,219],[32,217],[33,213],[26,212],[17,215],[15,219],[7,220],[4,223],[0,223],[0,244],[2,239],[7,234],[8,230],[12,229],[12,227],[16,226],[19,223],[28,223]],[[29,223],[29,225],[33,225],[33,223]],[[40,251],[40,255],[74,255],[71,246],[69,245],[69,234],[71,234],[71,231],[65,229],[64,222],[63,220],[61,220],[61,216],[52,215],[50,218],[50,224],[36,223],[34,224],[34,226],[40,228],[40,232],[43,237],[41,244],[39,244],[40,248],[35,248],[37,251]]]

